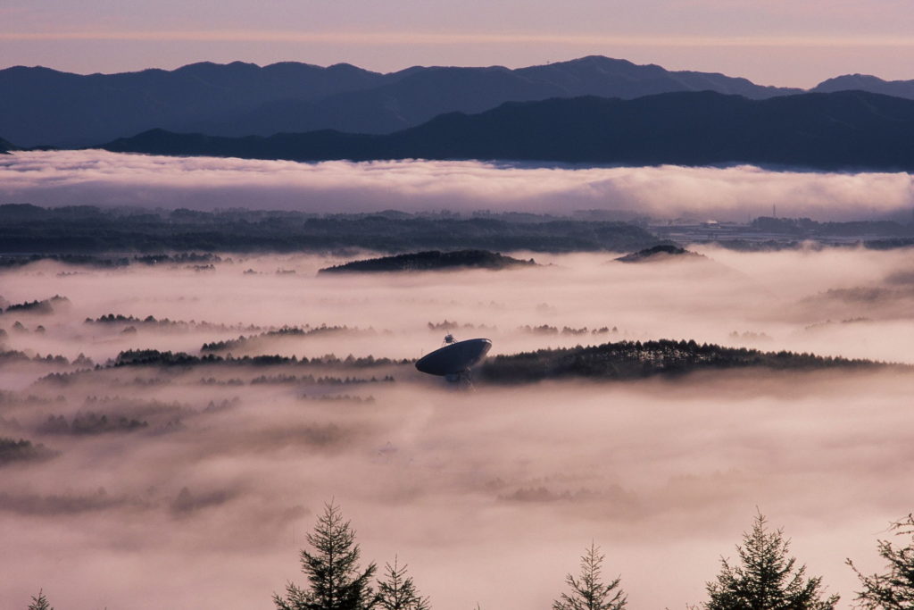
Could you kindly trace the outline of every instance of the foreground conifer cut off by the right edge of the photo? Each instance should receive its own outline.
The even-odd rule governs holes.
[[[908,546],[896,549],[888,540],[877,540],[879,556],[887,562],[887,572],[865,576],[851,560],[863,591],[857,593],[856,602],[866,610],[914,610],[914,513],[892,523],[889,531],[896,536],[910,536]]]

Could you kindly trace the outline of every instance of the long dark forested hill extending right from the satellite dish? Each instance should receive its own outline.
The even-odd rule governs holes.
[[[620,341],[587,348],[540,349],[486,360],[480,379],[498,383],[587,378],[633,380],[704,369],[853,369],[901,367],[872,360],[699,345],[695,341]]]

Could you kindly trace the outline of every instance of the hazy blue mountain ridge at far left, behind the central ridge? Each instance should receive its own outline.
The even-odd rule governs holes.
[[[315,99],[380,84],[347,64],[321,68],[239,61],[177,70],[79,75],[47,68],[0,70],[0,134],[22,146],[83,145],[152,127],[228,121],[260,104]]]

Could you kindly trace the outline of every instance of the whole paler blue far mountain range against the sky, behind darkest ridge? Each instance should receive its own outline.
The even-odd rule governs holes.
[[[861,75],[826,80],[813,91],[848,89],[914,98],[914,80]],[[15,67],[0,70],[0,91],[0,135],[20,146],[92,145],[152,128],[226,136],[323,129],[390,134],[443,113],[484,112],[505,102],[631,100],[676,91],[763,100],[802,92],[597,56],[516,70],[414,67],[388,74],[297,62],[90,75]]]

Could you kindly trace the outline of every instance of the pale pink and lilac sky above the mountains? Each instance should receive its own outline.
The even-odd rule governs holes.
[[[812,87],[914,79],[910,0],[0,0],[0,67],[79,73],[195,61],[508,67],[605,55]]]

